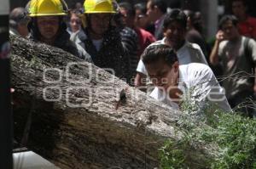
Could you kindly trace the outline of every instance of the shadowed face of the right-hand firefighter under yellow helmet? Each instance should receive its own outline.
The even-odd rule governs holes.
[[[110,14],[91,14],[90,15],[90,25],[92,31],[97,35],[103,35],[108,31]]]

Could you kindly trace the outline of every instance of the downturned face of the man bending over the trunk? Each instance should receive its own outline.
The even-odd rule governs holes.
[[[155,63],[146,64],[145,66],[148,70],[148,76],[155,87],[163,88],[165,91],[177,87],[178,62],[169,66],[163,59],[160,59]]]

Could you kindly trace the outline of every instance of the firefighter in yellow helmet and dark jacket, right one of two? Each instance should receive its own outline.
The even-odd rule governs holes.
[[[111,0],[85,0],[85,27],[78,36],[95,65],[107,68],[127,82],[131,78],[129,56],[125,54],[120,32],[111,23],[114,3]]]

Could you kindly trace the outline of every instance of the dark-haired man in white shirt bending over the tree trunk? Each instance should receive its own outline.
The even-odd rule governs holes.
[[[179,110],[184,99],[189,104],[195,104],[202,110],[207,104],[231,111],[230,104],[224,94],[224,89],[208,65],[190,63],[179,65],[177,54],[165,44],[152,45],[145,49],[142,60],[148,71],[148,76],[154,84],[150,94]]]

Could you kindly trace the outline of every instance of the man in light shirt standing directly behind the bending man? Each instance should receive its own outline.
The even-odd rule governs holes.
[[[202,63],[207,65],[207,59],[201,51],[201,48],[185,40],[187,27],[187,17],[180,9],[173,9],[170,14],[166,14],[163,31],[164,38],[154,42],[151,45],[166,44],[176,53],[180,65],[189,63]],[[151,46],[150,45],[150,46]],[[135,86],[143,86],[142,79],[147,76],[147,71],[143,61],[140,60],[137,65],[137,76]]]

